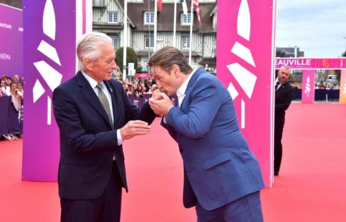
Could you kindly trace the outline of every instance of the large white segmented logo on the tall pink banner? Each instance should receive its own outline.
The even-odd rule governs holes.
[[[238,21],[237,21],[237,33],[239,36],[250,40],[251,31],[251,20],[250,20],[250,9],[247,0],[242,0],[239,6]],[[231,52],[248,64],[256,67],[251,51],[246,46],[236,41],[233,45]],[[228,70],[237,80],[239,85],[242,87],[246,95],[251,99],[252,93],[255,88],[257,76],[252,74],[246,68],[239,63],[233,63],[227,65]],[[228,91],[233,100],[239,95],[232,82],[228,85]],[[241,128],[245,128],[245,102],[241,99]]]

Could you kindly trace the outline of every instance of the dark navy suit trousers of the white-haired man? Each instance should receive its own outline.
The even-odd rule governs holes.
[[[91,200],[60,198],[61,222],[120,222],[122,180],[116,161],[100,197]]]

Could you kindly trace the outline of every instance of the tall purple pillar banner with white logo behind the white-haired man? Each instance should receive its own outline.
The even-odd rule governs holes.
[[[59,130],[53,116],[52,92],[76,74],[76,41],[91,31],[91,3],[23,0],[23,180],[57,181]]]

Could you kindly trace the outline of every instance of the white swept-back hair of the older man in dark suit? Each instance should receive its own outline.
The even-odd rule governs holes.
[[[113,45],[112,38],[104,33],[92,32],[84,34],[77,44],[78,70],[86,70],[84,59],[97,60],[102,53],[100,46],[107,42]]]

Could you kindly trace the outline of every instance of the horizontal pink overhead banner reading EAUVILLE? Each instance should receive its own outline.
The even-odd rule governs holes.
[[[275,69],[280,69],[283,65],[291,69],[345,69],[346,58],[333,59],[306,59],[306,58],[276,58]]]

